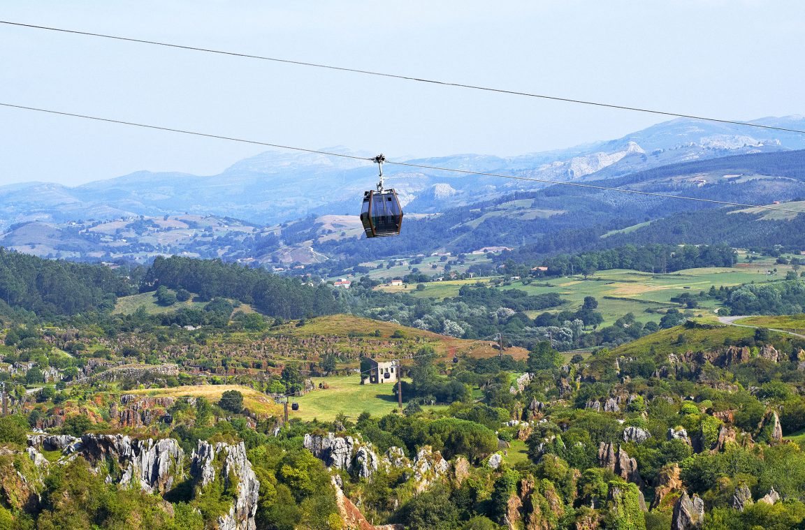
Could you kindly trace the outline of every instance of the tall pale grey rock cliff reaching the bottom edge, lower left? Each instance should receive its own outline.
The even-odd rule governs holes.
[[[260,493],[260,483],[254,474],[251,462],[246,458],[246,445],[243,442],[230,445],[217,442],[214,446],[199,440],[193,450],[190,473],[197,484],[204,487],[216,478],[216,463],[223,460],[220,469],[224,487],[237,491],[229,512],[218,517],[219,530],[254,530],[254,515]],[[230,479],[237,480],[237,487],[231,488]]]

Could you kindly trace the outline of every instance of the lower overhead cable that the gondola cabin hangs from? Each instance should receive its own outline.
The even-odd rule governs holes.
[[[155,129],[166,131],[169,133],[180,133],[180,134],[190,134],[192,136],[200,136],[204,138],[216,138],[218,140],[228,140],[229,142],[242,142],[253,144],[256,146],[268,146],[268,147],[276,147],[279,149],[287,149],[287,150],[294,150],[294,151],[302,151],[304,153],[315,153],[315,154],[324,154],[326,156],[334,156],[334,157],[341,157],[341,158],[352,158],[353,160],[361,160],[365,162],[374,163],[373,158],[366,158],[366,157],[359,157],[353,154],[343,154],[343,153],[333,153],[331,151],[322,151],[322,150],[315,150],[315,149],[307,149],[303,147],[295,147],[295,146],[285,146],[282,144],[276,143],[269,143],[269,142],[258,142],[256,140],[247,140],[245,138],[234,138],[231,136],[223,136],[221,134],[208,134],[208,133],[200,133],[197,131],[191,131],[186,129],[175,129],[173,127],[164,127],[162,125],[148,125],[144,123],[136,123],[134,121],[123,121],[123,120],[115,120],[112,118],[105,118],[105,117],[97,117],[97,116],[88,116],[86,114],[77,114],[77,113],[68,113],[59,110],[52,110],[52,109],[39,109],[37,107],[28,107],[25,105],[12,105],[10,103],[2,103],[0,102],[0,106],[7,107],[10,109],[21,109],[21,110],[30,110],[39,113],[47,113],[47,114],[56,114],[58,116],[68,116],[68,117],[79,117],[86,120],[93,120],[93,121],[102,121],[105,123],[114,123],[118,125],[131,125],[134,127],[142,127],[143,129]],[[414,164],[411,162],[391,162],[390,160],[386,160],[386,164],[392,164],[394,166],[404,166],[404,167],[415,167],[419,169],[427,169],[427,170],[435,170],[435,171],[450,171],[452,173],[461,173],[463,175],[478,175],[478,176],[487,176],[487,177],[497,177],[501,179],[515,179],[515,180],[525,180],[528,182],[535,182],[535,183],[546,183],[556,186],[572,186],[572,187],[583,187],[589,188],[594,190],[602,190],[602,191],[616,191],[618,193],[631,193],[635,195],[648,195],[651,197],[661,197],[663,199],[683,199],[683,200],[695,200],[700,203],[714,203],[714,204],[721,204],[724,206],[737,206],[737,207],[745,207],[745,208],[762,208],[764,210],[775,210],[778,212],[790,212],[790,213],[805,213],[802,210],[793,210],[791,208],[784,208],[778,206],[766,206],[763,204],[747,204],[747,203],[733,203],[730,201],[725,200],[716,200],[716,199],[702,199],[700,197],[687,197],[685,195],[671,195],[670,193],[657,193],[654,191],[638,191],[638,190],[629,190],[621,187],[608,187],[608,186],[597,186],[596,184],[584,184],[584,183],[569,183],[569,182],[561,182],[558,180],[550,180],[550,179],[536,179],[534,177],[523,177],[518,175],[503,175],[501,173],[486,173],[484,171],[469,171],[469,170],[460,170],[454,169],[451,167],[440,167],[440,166],[427,166],[425,164]]]

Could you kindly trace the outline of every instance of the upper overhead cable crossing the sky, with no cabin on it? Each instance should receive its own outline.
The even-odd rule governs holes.
[[[592,105],[596,107],[605,107],[608,109],[618,109],[618,110],[629,110],[638,113],[650,113],[650,114],[658,114],[662,116],[670,116],[670,117],[684,117],[690,118],[693,120],[702,120],[702,121],[714,121],[716,123],[726,123],[730,125],[741,125],[745,127],[755,127],[758,129],[770,129],[770,130],[778,130],[778,131],[785,131],[787,133],[799,133],[805,134],[805,130],[803,129],[789,129],[786,127],[776,127],[774,125],[763,125],[760,123],[750,123],[749,121],[735,121],[735,120],[725,120],[715,117],[705,117],[705,116],[696,116],[693,114],[683,114],[683,113],[672,113],[664,110],[657,110],[657,109],[645,109],[642,107],[633,107],[629,105],[616,105],[613,103],[603,103],[601,101],[585,101],[579,100],[570,97],[559,97],[559,96],[548,96],[546,94],[536,94],[534,92],[521,92],[518,90],[508,90],[505,88],[493,88],[493,87],[486,87],[477,84],[466,84],[466,83],[455,83],[451,81],[444,81],[444,80],[435,80],[435,79],[426,79],[423,77],[415,77],[415,76],[403,76],[401,74],[392,74],[387,72],[376,72],[373,70],[364,70],[361,68],[347,68],[341,66],[334,66],[332,64],[319,64],[319,63],[309,63],[306,61],[299,61],[299,60],[290,60],[290,59],[281,59],[279,57],[268,57],[266,55],[254,55],[249,53],[241,53],[237,51],[224,51],[224,50],[214,50],[212,48],[204,48],[204,47],[195,47],[195,46],[186,46],[183,44],[175,44],[175,43],[163,43],[156,40],[147,40],[147,39],[134,39],[131,37],[122,37],[119,35],[106,35],[103,33],[93,33],[90,31],[78,31],[78,30],[68,30],[60,27],[48,27],[48,26],[37,26],[35,24],[23,24],[17,22],[10,22],[7,20],[0,20],[0,24],[6,24],[8,26],[17,26],[17,27],[27,27],[37,30],[47,30],[47,31],[58,31],[60,33],[69,33],[73,35],[85,35],[90,37],[100,37],[102,39],[113,39],[113,40],[121,40],[130,43],[139,43],[139,44],[151,44],[154,46],[163,46],[163,47],[171,47],[171,48],[179,48],[182,50],[190,50],[190,51],[203,51],[205,53],[214,53],[217,55],[231,55],[234,57],[243,57],[246,59],[254,59],[254,60],[265,60],[271,61],[274,63],[283,63],[283,64],[294,64],[296,66],[307,66],[312,68],[325,68],[328,70],[336,70],[339,72],[350,72],[350,73],[358,73],[364,74],[367,76],[379,76],[379,77],[387,77],[392,79],[401,79],[401,80],[408,80],[408,81],[416,81],[419,83],[428,83],[428,84],[438,84],[441,86],[448,86],[448,87],[456,87],[456,88],[469,88],[472,90],[481,90],[484,92],[498,92],[502,94],[509,94],[512,96],[525,96],[525,97],[535,97],[538,99],[543,100],[551,100],[551,101],[564,101],[565,103],[575,103],[579,105]]]

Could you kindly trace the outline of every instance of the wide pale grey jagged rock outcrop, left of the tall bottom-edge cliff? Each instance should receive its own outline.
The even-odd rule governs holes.
[[[123,471],[120,484],[138,486],[148,493],[163,494],[183,475],[184,451],[173,438],[137,440],[121,434],[85,434],[77,452],[93,466],[118,462]]]

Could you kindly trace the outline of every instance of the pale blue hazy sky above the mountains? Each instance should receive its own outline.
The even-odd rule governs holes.
[[[805,113],[800,0],[2,0],[0,19],[727,119]],[[663,121],[5,25],[0,102],[418,157],[522,154]],[[0,108],[0,184],[211,175],[260,151]]]

